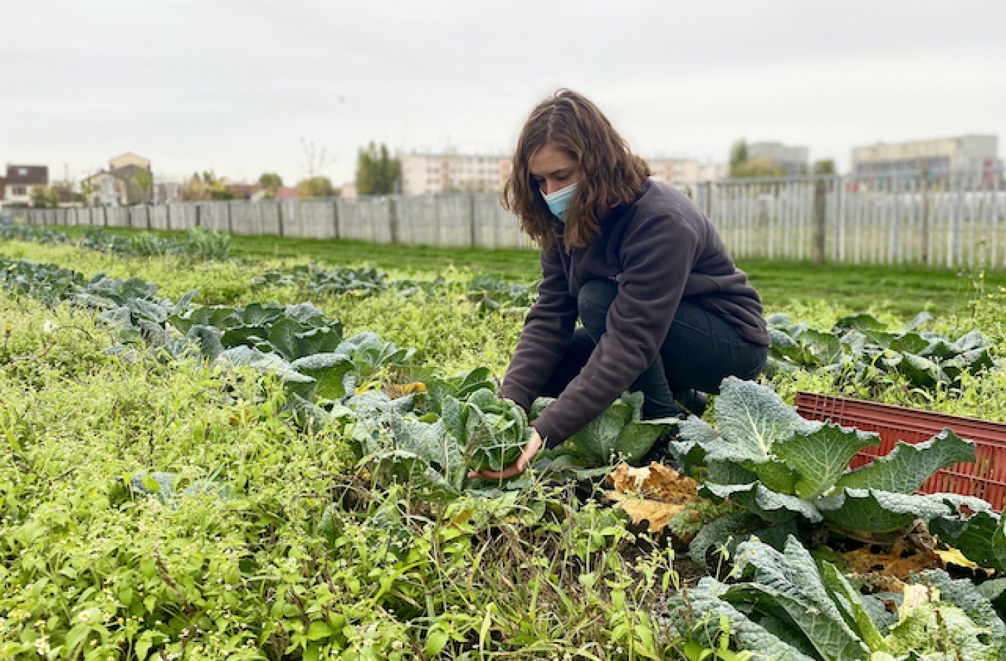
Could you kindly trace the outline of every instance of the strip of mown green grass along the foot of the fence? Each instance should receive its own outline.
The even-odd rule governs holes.
[[[53,227],[82,235],[86,227]],[[137,229],[109,228],[122,234]],[[162,232],[181,236],[182,232]],[[403,276],[434,277],[449,268],[530,282],[540,277],[537,253],[528,250],[446,249],[381,245],[362,241],[240,236],[231,238],[238,258],[267,262],[319,262],[330,266],[368,265]],[[850,310],[873,309],[907,319],[920,310],[963,312],[982,290],[1006,288],[1006,273],[906,266],[812,265],[741,260],[767,310],[828,301]]]

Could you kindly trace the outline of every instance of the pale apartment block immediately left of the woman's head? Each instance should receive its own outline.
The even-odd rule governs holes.
[[[401,192],[423,195],[452,191],[500,192],[513,170],[509,156],[481,154],[406,154],[401,161]]]

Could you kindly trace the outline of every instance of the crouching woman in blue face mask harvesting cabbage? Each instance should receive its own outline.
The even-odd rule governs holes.
[[[762,302],[712,223],[650,168],[590,101],[568,90],[524,125],[504,206],[541,246],[538,302],[524,321],[503,395],[533,423],[522,472],[624,391],[642,390],[645,418],[701,414],[723,377],[753,378],[770,344]],[[577,318],[582,328],[575,328]]]

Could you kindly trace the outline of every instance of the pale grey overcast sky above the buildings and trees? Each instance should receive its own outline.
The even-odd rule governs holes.
[[[510,153],[559,87],[643,156],[1006,139],[1006,2],[0,0],[0,161],[354,177],[368,141]],[[1002,142],[1000,143],[1002,145]],[[1003,148],[1000,146],[1000,154]]]

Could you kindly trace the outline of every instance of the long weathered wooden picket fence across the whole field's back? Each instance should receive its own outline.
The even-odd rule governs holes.
[[[680,184],[738,259],[1006,268],[1001,171]],[[494,194],[14,209],[32,224],[533,247]]]

